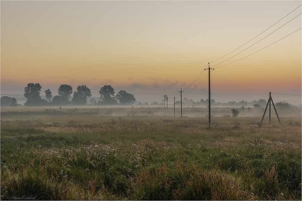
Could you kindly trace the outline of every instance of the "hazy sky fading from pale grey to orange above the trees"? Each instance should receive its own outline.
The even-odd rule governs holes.
[[[69,84],[99,96],[111,85],[142,102],[165,94],[178,101],[181,88],[183,98],[199,101],[208,99],[210,65],[215,101],[301,95],[301,1],[0,4],[1,94],[40,83],[41,95],[50,89],[55,96]],[[272,97],[301,104],[301,96]]]

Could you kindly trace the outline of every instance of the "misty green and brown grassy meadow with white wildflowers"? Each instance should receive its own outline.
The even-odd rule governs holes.
[[[1,108],[1,200],[301,200],[301,109],[182,111]]]

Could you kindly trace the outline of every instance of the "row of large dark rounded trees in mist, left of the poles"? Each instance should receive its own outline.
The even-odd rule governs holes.
[[[58,95],[52,97],[50,89],[45,90],[46,100],[40,96],[42,86],[39,83],[28,83],[24,88],[24,97],[27,101],[25,106],[63,106],[63,105],[87,105],[91,91],[86,85],[79,85],[77,91],[73,92],[73,88],[68,84],[61,84],[58,88]],[[71,99],[71,94],[73,97]],[[99,90],[100,98],[96,102],[94,98],[90,99],[91,105],[132,105],[136,100],[133,94],[120,90],[116,95],[111,85],[104,85]],[[71,99],[71,100],[70,100]],[[117,102],[119,101],[119,103]],[[9,104],[8,104],[9,103]],[[3,96],[1,98],[1,106],[17,106],[15,98]]]

